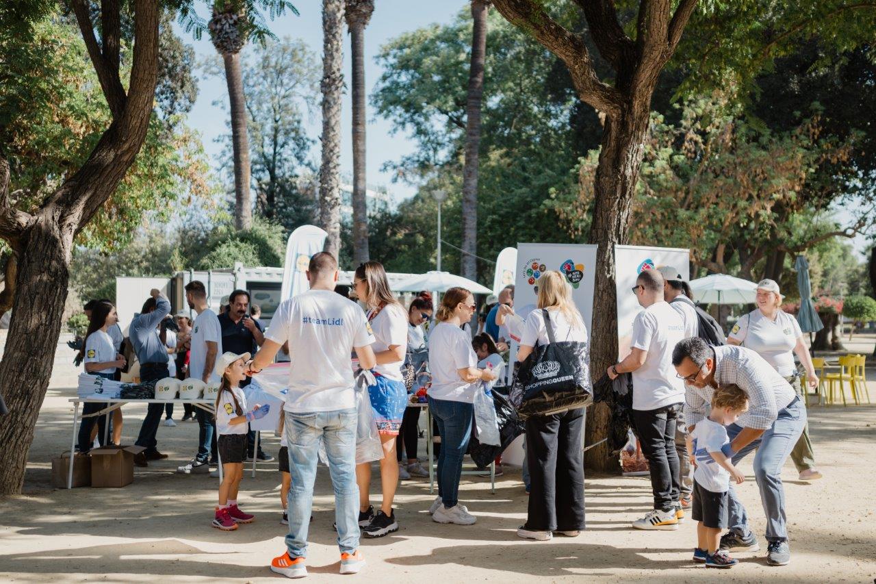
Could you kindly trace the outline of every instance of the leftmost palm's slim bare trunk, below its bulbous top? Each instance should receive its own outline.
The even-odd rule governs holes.
[[[223,54],[225,81],[231,105],[231,144],[234,152],[234,226],[252,226],[250,198],[250,139],[246,133],[246,97],[244,76],[240,69],[240,53]]]

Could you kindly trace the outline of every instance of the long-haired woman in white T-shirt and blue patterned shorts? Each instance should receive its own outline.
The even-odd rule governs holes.
[[[396,438],[405,416],[407,389],[401,366],[407,353],[407,311],[392,296],[386,272],[378,261],[366,261],[356,268],[353,287],[359,300],[368,305],[368,323],[374,333],[371,348],[378,364],[372,372],[377,383],[368,388],[371,408],[378,424],[384,457],[380,459],[380,483],[383,503],[374,515],[369,497],[371,463],[356,466],[359,485],[359,525],[370,538],[381,538],[399,531],[399,523],[392,512],[392,499],[399,484],[399,461],[396,457]]]

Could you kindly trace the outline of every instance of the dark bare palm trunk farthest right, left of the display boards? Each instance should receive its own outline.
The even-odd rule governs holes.
[[[477,164],[481,144],[481,97],[487,46],[486,0],[471,0],[471,65],[465,104],[465,166],[463,167],[463,278],[477,281]]]

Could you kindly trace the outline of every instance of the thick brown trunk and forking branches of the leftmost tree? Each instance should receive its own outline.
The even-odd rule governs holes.
[[[145,141],[158,76],[160,5],[134,4],[134,47],[127,95],[118,82],[115,44],[106,53],[96,45],[94,24],[84,0],[72,0],[89,57],[101,70],[113,121],[82,167],[28,214],[11,207],[8,165],[0,160],[0,237],[18,253],[18,273],[9,334],[0,361],[0,392],[10,409],[0,417],[0,495],[24,486],[27,452],[39,408],[52,375],[61,317],[67,300],[69,263],[76,234],[115,191]],[[103,8],[117,3],[105,3]],[[85,10],[82,10],[82,9]],[[104,15],[114,21],[118,15]],[[96,48],[95,48],[96,47]],[[5,182],[5,185],[4,185]]]

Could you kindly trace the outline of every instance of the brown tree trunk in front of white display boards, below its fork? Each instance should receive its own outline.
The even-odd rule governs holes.
[[[596,205],[590,227],[590,243],[597,244],[597,273],[593,295],[590,342],[590,373],[596,381],[608,367],[618,362],[617,274],[614,246],[629,239],[632,196],[645,152],[644,140],[648,110],[633,115],[625,112],[617,120],[605,120],[602,149],[599,153],[594,188]],[[635,269],[635,267],[632,267]],[[595,444],[608,435],[611,413],[597,404],[588,411],[586,444]],[[616,471],[618,461],[609,456],[608,446],[595,446],[587,452],[587,466],[599,471]]]

